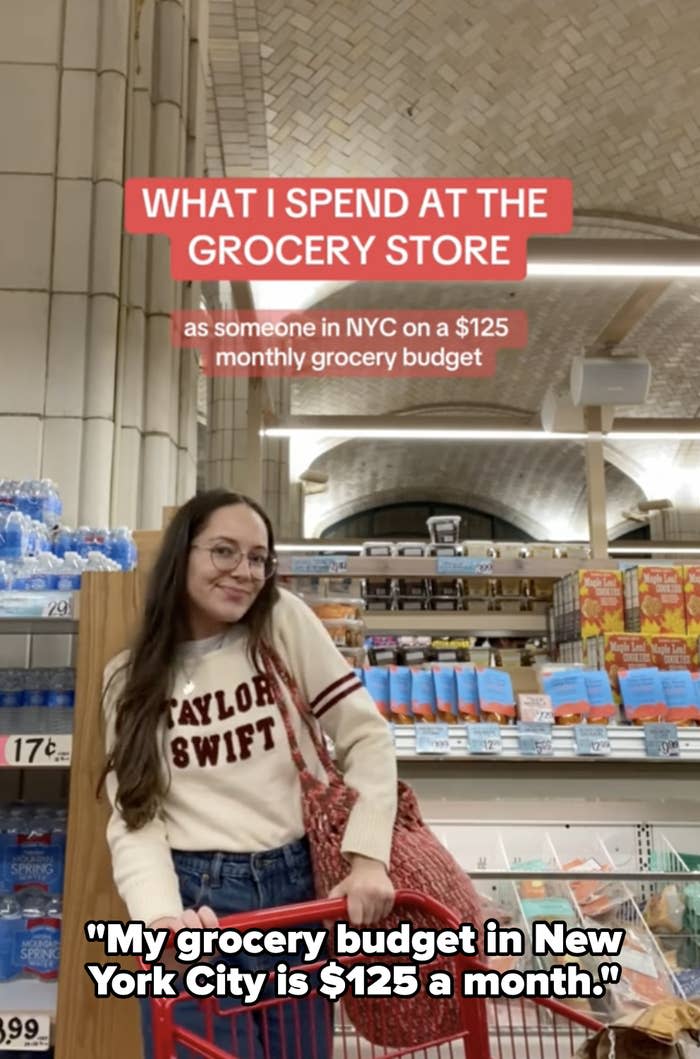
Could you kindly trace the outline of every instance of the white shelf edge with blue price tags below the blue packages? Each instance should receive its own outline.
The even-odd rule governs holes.
[[[418,753],[416,750],[416,725],[396,724],[394,725],[394,746],[396,756],[402,760],[448,760],[448,759],[469,759],[475,760],[513,760],[519,762],[541,762],[541,761],[577,761],[588,765],[598,761],[644,761],[649,766],[664,765],[669,768],[678,768],[679,765],[700,761],[700,729],[679,728],[679,757],[648,757],[645,751],[645,735],[643,726],[631,726],[626,724],[608,724],[607,731],[610,742],[610,753],[600,756],[590,754],[577,754],[575,736],[569,725],[553,725],[552,728],[552,754],[541,757],[523,755],[520,753],[518,729],[515,724],[504,724],[500,726],[501,752],[498,754],[472,754],[469,753],[467,743],[466,724],[450,724],[449,750],[445,754]]]

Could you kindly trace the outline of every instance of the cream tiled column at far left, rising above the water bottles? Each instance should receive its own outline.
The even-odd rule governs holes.
[[[197,363],[129,176],[202,173],[207,0],[0,5],[0,477],[72,523],[160,525],[196,481]]]

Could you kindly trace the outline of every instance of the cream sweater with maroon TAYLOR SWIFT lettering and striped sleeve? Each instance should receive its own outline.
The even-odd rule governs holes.
[[[284,589],[272,617],[273,646],[294,676],[322,731],[333,740],[346,784],[359,797],[343,852],[389,864],[396,814],[396,761],[389,726],[316,614]],[[128,652],[105,670],[107,749]],[[195,689],[183,689],[192,680]],[[289,702],[309,768],[323,770],[305,723]],[[246,652],[245,626],[220,638],[185,645],[167,719],[161,725],[164,775],[169,786],[160,814],[129,831],[115,805],[116,777],[107,793],[107,828],[114,882],[132,919],[145,923],[182,911],[172,849],[259,852],[303,837],[299,774],[268,682]]]

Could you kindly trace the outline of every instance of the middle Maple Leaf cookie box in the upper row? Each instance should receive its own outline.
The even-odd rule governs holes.
[[[626,617],[631,632],[685,635],[682,567],[641,566],[626,571]]]

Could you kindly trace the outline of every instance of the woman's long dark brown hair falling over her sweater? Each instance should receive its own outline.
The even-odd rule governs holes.
[[[115,772],[118,805],[132,830],[152,820],[165,792],[158,729],[170,695],[178,646],[190,638],[187,563],[192,542],[214,511],[232,504],[246,504],[259,515],[267,528],[269,553],[274,555],[272,524],[259,504],[237,492],[212,489],[193,497],[176,513],[148,578],[143,618],[115,703],[114,742],[97,788],[100,791],[107,775]],[[248,652],[254,665],[269,633],[277,597],[273,576],[246,613]]]

